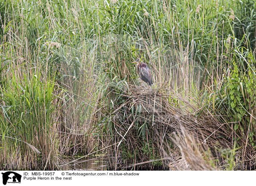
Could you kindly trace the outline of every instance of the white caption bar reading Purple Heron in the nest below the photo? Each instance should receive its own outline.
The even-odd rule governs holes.
[[[0,185],[247,185],[256,171],[1,171]],[[19,183],[18,185],[15,183]]]

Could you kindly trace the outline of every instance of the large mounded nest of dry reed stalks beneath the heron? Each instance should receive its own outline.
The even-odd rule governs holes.
[[[112,85],[106,92],[106,105],[96,117],[105,118],[102,145],[110,146],[106,148],[110,169],[213,170],[205,164],[211,161],[204,161],[212,156],[223,164],[221,149],[232,144],[230,130],[194,97],[184,98],[163,85]],[[196,162],[204,165],[196,168]]]

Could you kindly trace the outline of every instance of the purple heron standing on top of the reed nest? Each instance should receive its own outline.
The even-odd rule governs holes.
[[[140,62],[140,59],[137,59],[136,61],[134,61],[132,63],[137,63],[136,70],[137,70],[137,73],[139,74],[140,78],[142,79],[142,81],[146,82],[148,85],[153,84],[151,71],[148,68],[148,66],[145,63]]]

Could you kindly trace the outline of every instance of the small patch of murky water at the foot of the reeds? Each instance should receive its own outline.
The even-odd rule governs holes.
[[[107,161],[104,157],[69,157],[63,159],[64,162],[59,167],[61,170],[66,171],[105,171],[107,170]],[[75,161],[76,160],[76,161]],[[72,162],[74,161],[74,162]],[[70,163],[72,162],[72,163]]]

